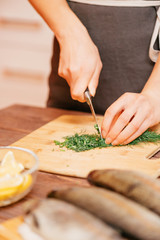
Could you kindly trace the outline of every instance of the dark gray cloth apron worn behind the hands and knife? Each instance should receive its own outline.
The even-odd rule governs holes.
[[[149,47],[158,7],[104,6],[76,1],[69,5],[99,49],[103,69],[93,104],[96,113],[104,114],[123,93],[141,92],[148,80],[154,67]],[[158,45],[156,37],[155,51]],[[86,103],[72,100],[67,82],[58,76],[59,52],[55,38],[47,105],[88,112]]]

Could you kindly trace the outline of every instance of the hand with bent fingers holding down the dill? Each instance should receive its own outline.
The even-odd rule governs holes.
[[[125,93],[106,110],[102,136],[107,144],[128,144],[160,122],[159,96],[153,95]]]

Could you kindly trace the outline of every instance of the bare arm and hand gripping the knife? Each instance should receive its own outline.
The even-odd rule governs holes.
[[[60,44],[58,73],[70,86],[71,96],[84,101],[89,88],[95,95],[102,63],[97,47],[66,0],[29,0],[49,25]]]

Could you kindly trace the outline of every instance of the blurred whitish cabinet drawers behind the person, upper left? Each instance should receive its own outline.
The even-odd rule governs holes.
[[[52,41],[27,0],[0,0],[0,109],[46,105]]]

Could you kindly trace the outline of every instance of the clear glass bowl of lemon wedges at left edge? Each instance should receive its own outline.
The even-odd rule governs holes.
[[[0,147],[0,207],[30,192],[36,180],[38,157],[29,149]]]

